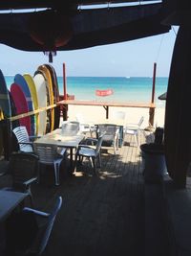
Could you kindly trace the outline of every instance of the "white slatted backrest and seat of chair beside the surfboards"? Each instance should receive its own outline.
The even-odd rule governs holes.
[[[17,127],[13,128],[12,130],[16,136],[16,139],[19,143],[19,149],[20,151],[25,151],[25,152],[32,152],[32,145],[26,145],[22,144],[23,143],[30,143],[30,137],[27,131],[26,127]]]

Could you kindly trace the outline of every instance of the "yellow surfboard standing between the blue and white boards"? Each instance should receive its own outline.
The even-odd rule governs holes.
[[[36,87],[35,87],[33,78],[30,74],[24,74],[23,77],[24,77],[25,81],[27,81],[28,87],[29,87],[31,95],[32,95],[33,109],[38,109],[38,98],[37,98],[37,92],[36,92]],[[36,134],[38,134],[39,114],[35,114],[34,121],[35,121],[34,133],[36,135]]]

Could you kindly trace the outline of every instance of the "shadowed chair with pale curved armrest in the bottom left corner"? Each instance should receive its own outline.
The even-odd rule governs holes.
[[[25,207],[13,214],[6,223],[6,255],[40,256],[49,242],[61,206],[62,198],[58,197],[51,213]]]

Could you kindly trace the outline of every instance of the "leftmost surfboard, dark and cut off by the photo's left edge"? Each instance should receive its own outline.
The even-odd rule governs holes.
[[[11,117],[11,103],[7,84],[2,71],[0,70],[0,152],[5,159],[9,159],[11,153],[11,122],[7,119]]]

